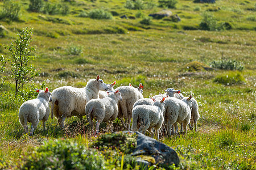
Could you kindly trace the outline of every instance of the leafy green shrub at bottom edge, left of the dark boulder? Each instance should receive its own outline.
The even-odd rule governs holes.
[[[68,140],[45,142],[29,151],[21,169],[104,169],[100,152]]]

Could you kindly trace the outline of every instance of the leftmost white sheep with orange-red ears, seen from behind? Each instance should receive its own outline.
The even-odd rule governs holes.
[[[19,108],[19,122],[23,126],[25,133],[28,133],[27,122],[31,122],[30,135],[33,135],[40,121],[43,121],[43,128],[46,130],[46,121],[49,118],[49,101],[52,101],[51,92],[46,90],[36,90],[39,92],[38,98],[25,101]]]

